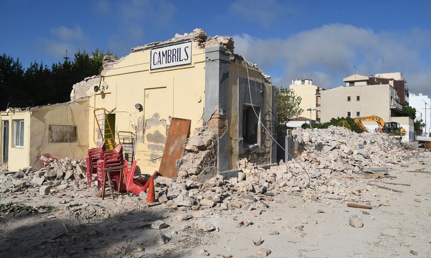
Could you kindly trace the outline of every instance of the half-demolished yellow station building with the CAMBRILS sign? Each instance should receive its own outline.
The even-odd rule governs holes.
[[[190,137],[213,132],[206,147],[214,156],[206,159],[218,171],[237,168],[242,158],[258,164],[276,159],[274,86],[270,76],[234,54],[229,37],[196,29],[134,47],[119,60],[105,57],[100,75],[74,85],[71,101],[81,98],[89,98],[88,110],[73,116],[88,119],[82,130],[89,147],[100,145],[102,136],[125,142],[141,173],[159,169],[173,117],[191,120]],[[195,140],[195,152],[202,150],[199,144]]]

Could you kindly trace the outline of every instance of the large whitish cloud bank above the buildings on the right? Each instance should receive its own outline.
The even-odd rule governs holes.
[[[343,84],[344,76],[356,73],[371,75],[381,71],[401,71],[411,91],[431,95],[431,66],[424,54],[431,43],[431,32],[413,29],[405,32],[374,32],[346,24],[328,24],[303,31],[289,38],[261,39],[247,34],[234,35],[235,53],[244,55],[271,75],[277,86],[287,86],[297,77],[310,78],[322,87]],[[417,40],[416,40],[417,39]]]

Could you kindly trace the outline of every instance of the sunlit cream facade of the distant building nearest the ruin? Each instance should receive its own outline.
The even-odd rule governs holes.
[[[301,104],[299,105],[299,107],[301,109],[303,109],[304,111],[302,111],[302,113],[298,116],[298,117],[306,117],[306,118],[310,118],[310,112],[307,111],[307,109],[311,108],[311,109],[316,109],[316,90],[317,90],[317,86],[315,85],[309,85],[309,84],[304,84],[304,85],[290,85],[289,89],[294,90],[295,91],[295,95],[300,96],[301,99]],[[316,111],[312,111],[312,120],[316,121]]]

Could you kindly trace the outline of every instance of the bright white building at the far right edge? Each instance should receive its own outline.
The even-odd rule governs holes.
[[[427,95],[410,93],[410,106],[416,109],[415,121],[422,120],[425,123],[422,136],[431,133],[431,99]]]

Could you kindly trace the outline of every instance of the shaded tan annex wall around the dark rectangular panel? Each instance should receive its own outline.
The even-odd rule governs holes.
[[[42,167],[41,154],[50,153],[59,158],[84,159],[88,150],[88,99],[62,105],[35,109],[31,115],[30,164]],[[49,142],[50,125],[76,125],[76,142]]]

